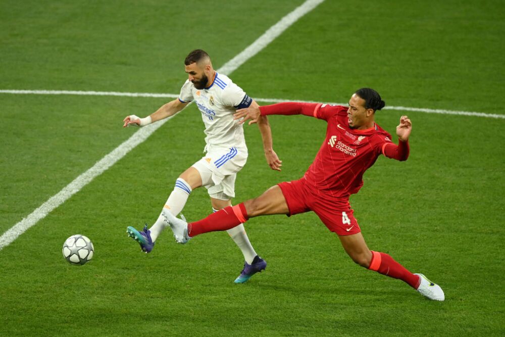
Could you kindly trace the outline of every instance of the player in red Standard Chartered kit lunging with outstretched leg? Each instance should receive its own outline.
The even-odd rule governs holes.
[[[363,174],[379,155],[399,161],[409,157],[409,136],[412,123],[401,116],[396,127],[398,145],[391,135],[375,123],[374,116],[385,103],[379,93],[370,88],[356,91],[349,106],[312,103],[279,103],[237,110],[235,118],[256,123],[266,115],[306,115],[328,123],[326,138],[305,175],[298,180],[281,182],[263,195],[230,206],[207,218],[186,223],[170,212],[167,222],[179,243],[210,231],[226,230],[259,215],[287,214],[313,211],[332,232],[335,232],[351,259],[359,265],[389,277],[405,281],[431,300],[443,301],[440,286],[423,274],[413,274],[391,256],[371,251],[349,205],[349,196],[363,186]]]

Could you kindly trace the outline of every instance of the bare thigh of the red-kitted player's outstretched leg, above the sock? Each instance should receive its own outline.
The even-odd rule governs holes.
[[[286,199],[279,185],[267,189],[261,196],[244,202],[249,217],[269,214],[289,214]]]

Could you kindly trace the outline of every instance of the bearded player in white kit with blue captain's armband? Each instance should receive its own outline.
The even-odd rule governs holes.
[[[123,127],[145,126],[176,114],[191,101],[194,101],[200,110],[205,124],[206,154],[176,180],[175,187],[164,206],[164,209],[175,216],[184,208],[191,191],[200,186],[208,189],[215,212],[231,206],[231,199],[235,197],[236,174],[247,161],[243,128],[233,119],[233,114],[237,109],[251,105],[258,106],[231,79],[213,69],[209,55],[203,50],[189,53],[184,64],[188,79],[182,86],[177,100],[163,105],[145,118],[130,115],[123,120]],[[280,171],[282,164],[272,149],[272,135],[267,118],[265,117],[258,125],[267,162],[273,170]],[[149,229],[147,225],[142,231],[129,226],[127,233],[140,244],[142,251],[149,253],[167,225],[165,217],[160,214]],[[255,273],[264,270],[267,263],[252,248],[243,224],[227,232],[245,259],[244,268],[235,279],[235,283],[242,283]]]

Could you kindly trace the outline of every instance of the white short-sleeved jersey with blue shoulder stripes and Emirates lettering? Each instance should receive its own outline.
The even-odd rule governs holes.
[[[205,142],[208,146],[245,148],[242,124],[233,120],[236,109],[247,108],[252,99],[228,76],[214,76],[211,85],[196,89],[189,80],[181,88],[179,100],[195,101],[205,124]]]

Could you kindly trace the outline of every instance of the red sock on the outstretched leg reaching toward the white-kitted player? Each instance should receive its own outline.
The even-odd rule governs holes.
[[[198,234],[227,230],[244,223],[248,219],[243,203],[228,206],[209,215],[205,219],[188,223],[188,235],[193,237]]]

